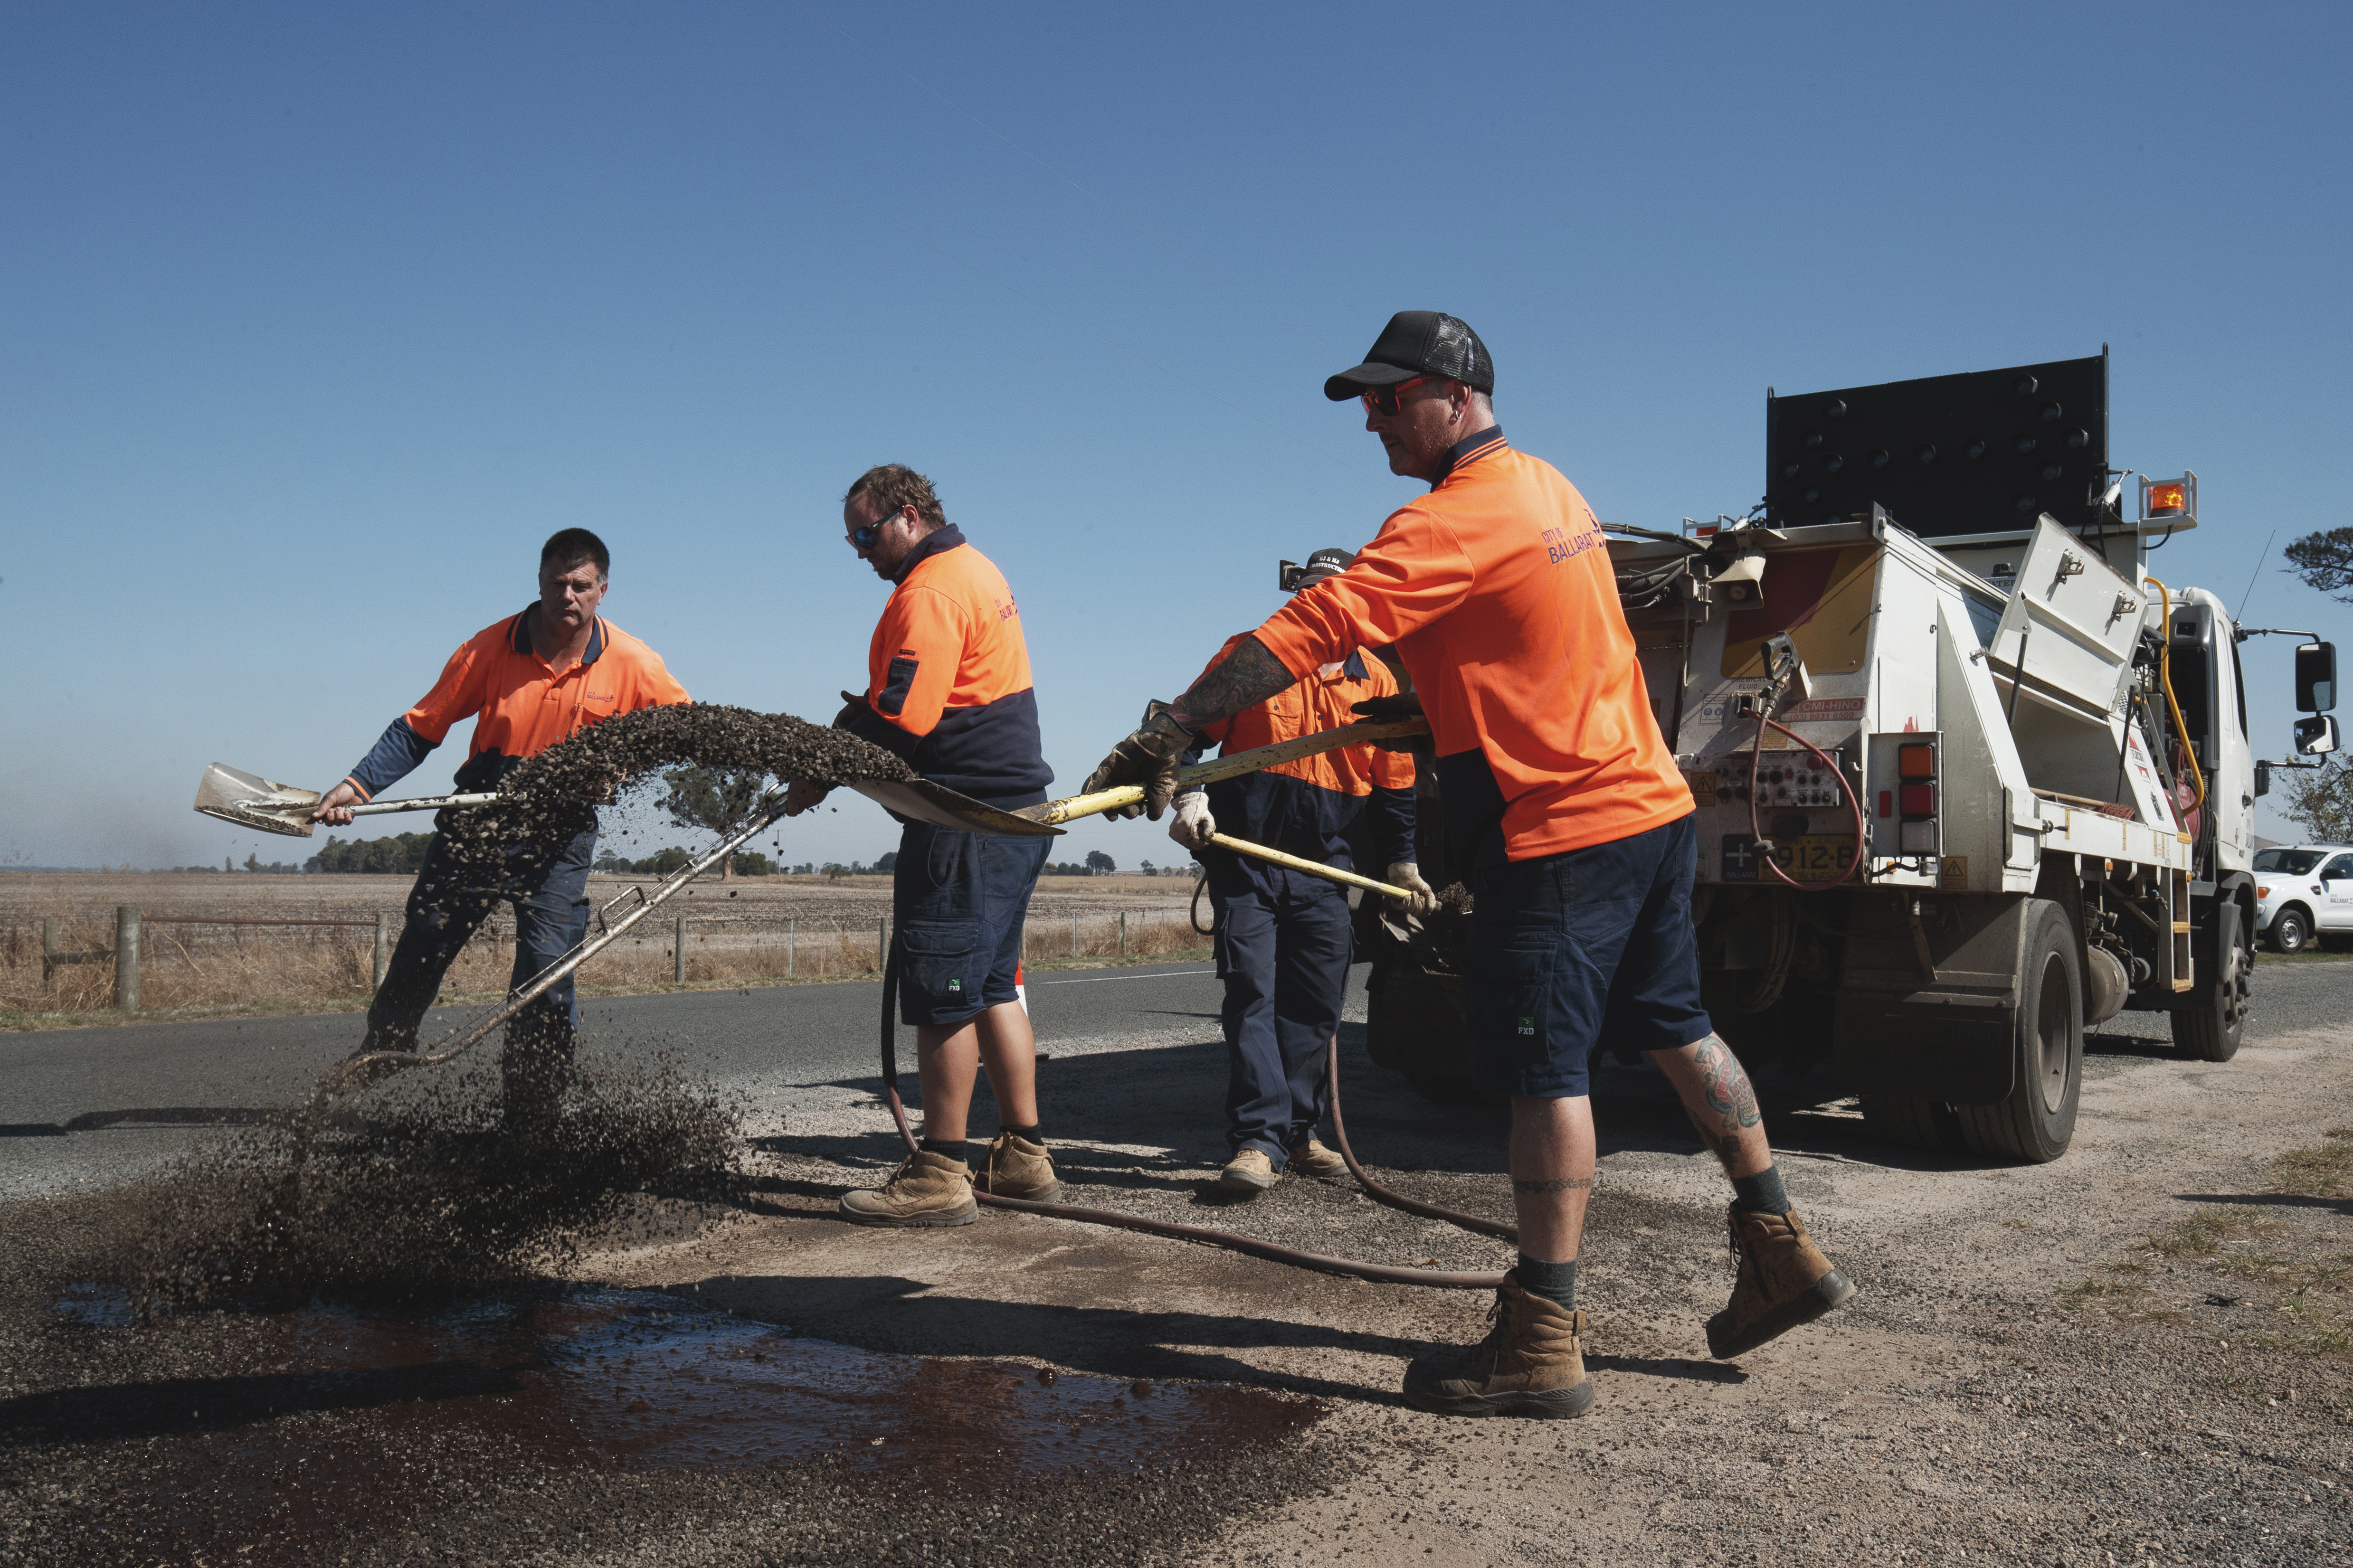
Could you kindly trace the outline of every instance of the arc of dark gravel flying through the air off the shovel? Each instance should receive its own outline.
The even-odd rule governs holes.
[[[722,703],[645,708],[593,724],[525,759],[489,806],[445,811],[445,832],[482,849],[562,844],[595,825],[595,809],[628,778],[696,764],[824,785],[908,780],[915,771],[873,741],[788,712]]]

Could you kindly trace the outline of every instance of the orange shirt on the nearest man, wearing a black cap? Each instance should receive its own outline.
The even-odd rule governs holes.
[[[1497,849],[1534,860],[1692,811],[1593,508],[1497,428],[1461,442],[1428,496],[1257,637],[1299,677],[1358,646],[1398,649],[1431,719],[1461,870]]]

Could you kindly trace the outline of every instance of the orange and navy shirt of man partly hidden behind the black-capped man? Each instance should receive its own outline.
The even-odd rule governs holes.
[[[1249,632],[1235,632],[1217,651],[1209,668],[1217,668],[1233,644]],[[1278,691],[1257,708],[1219,719],[1200,729],[1202,743],[1186,752],[1195,762],[1200,752],[1217,743],[1224,755],[1249,752],[1261,745],[1280,745],[1299,736],[1355,724],[1355,703],[1395,696],[1398,677],[1379,658],[1353,651],[1337,663],[1311,672],[1297,686]],[[1278,762],[1257,773],[1221,778],[1207,785],[1209,813],[1219,832],[1228,832],[1252,844],[1282,849],[1294,856],[1322,860],[1348,870],[1353,856],[1344,835],[1355,818],[1369,816],[1372,849],[1381,865],[1414,858],[1414,759],[1409,752],[1384,752],[1377,745],[1341,745],[1315,757]],[[1369,811],[1367,811],[1369,809]],[[1231,856],[1233,851],[1205,849],[1202,856]],[[1207,858],[1202,860],[1207,865]],[[1252,882],[1264,882],[1264,860],[1247,860],[1242,870]],[[1379,870],[1379,865],[1374,867]]]

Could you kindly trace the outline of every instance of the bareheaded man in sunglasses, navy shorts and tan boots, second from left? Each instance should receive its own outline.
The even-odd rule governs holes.
[[[1005,574],[965,543],[932,482],[899,463],[859,475],[842,496],[842,531],[892,595],[866,649],[866,691],[842,693],[833,726],[991,806],[1045,802],[1054,769]],[[795,783],[784,809],[798,816],[824,797]],[[1016,992],[1021,922],[1052,839],[901,823],[892,924],[922,1140],[882,1187],[845,1194],[840,1213],[854,1225],[972,1225],[974,1187],[1040,1204],[1061,1192],[1038,1126],[1038,1039]],[[1000,1126],[974,1175],[965,1119],[981,1065]]]

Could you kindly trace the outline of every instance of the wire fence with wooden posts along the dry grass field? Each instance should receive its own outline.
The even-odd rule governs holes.
[[[619,914],[619,912],[616,912]],[[591,933],[598,929],[591,917]],[[374,994],[405,917],[235,917],[96,912],[0,926],[0,1011],[96,1013],[184,1006],[351,1001]],[[878,978],[892,922],[779,914],[647,917],[581,969],[584,985],[711,985]],[[1148,959],[1200,952],[1186,910],[1038,914],[1024,926],[1028,964]],[[515,919],[482,922],[442,980],[445,992],[504,992]]]

